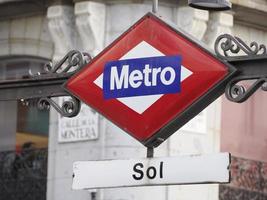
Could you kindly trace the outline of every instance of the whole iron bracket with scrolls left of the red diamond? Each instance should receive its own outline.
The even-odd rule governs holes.
[[[29,74],[26,79],[2,81],[0,101],[20,100],[25,105],[37,103],[41,110],[53,107],[64,117],[74,117],[80,111],[80,101],[67,93],[62,84],[90,60],[89,54],[72,50],[54,66],[51,63],[45,65],[44,73]],[[52,99],[59,96],[70,96],[70,100],[60,106]]]

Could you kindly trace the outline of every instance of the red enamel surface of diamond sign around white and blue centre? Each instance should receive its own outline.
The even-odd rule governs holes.
[[[101,88],[94,81],[103,73],[106,62],[118,60],[142,41],[165,55],[181,55],[182,65],[193,74],[182,82],[181,93],[164,95],[144,113],[138,114],[116,99],[104,100]],[[74,75],[65,87],[142,142],[167,125],[227,74],[227,67],[209,53],[157,18],[145,16]]]

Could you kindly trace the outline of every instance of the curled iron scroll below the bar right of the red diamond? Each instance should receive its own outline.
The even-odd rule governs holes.
[[[244,87],[243,85],[238,84],[241,81],[245,80],[256,80],[249,88]],[[251,77],[236,77],[233,78],[226,86],[225,95],[228,100],[242,103],[246,101],[258,88],[267,91],[267,77],[255,78]]]

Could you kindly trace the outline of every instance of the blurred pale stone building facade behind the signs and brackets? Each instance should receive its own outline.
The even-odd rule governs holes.
[[[222,33],[237,35],[248,43],[267,44],[266,0],[231,2],[231,11],[208,12],[192,9],[183,0],[160,0],[159,14],[211,49]],[[27,78],[72,49],[95,56],[149,11],[151,1],[145,0],[0,0],[0,81]],[[220,98],[155,149],[155,156],[231,152],[230,185],[90,191],[71,190],[74,161],[140,158],[146,156],[146,149],[85,105],[77,117],[65,119],[53,109],[39,111],[23,100],[0,102],[0,196],[47,200],[266,199],[266,98],[263,91],[241,105]],[[91,130],[88,137],[78,136],[79,127]]]

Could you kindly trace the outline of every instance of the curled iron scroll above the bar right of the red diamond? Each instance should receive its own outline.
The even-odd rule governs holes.
[[[251,42],[247,45],[239,37],[229,34],[220,35],[215,41],[215,53],[222,59],[237,57],[255,58],[255,56],[267,56],[266,46]]]

